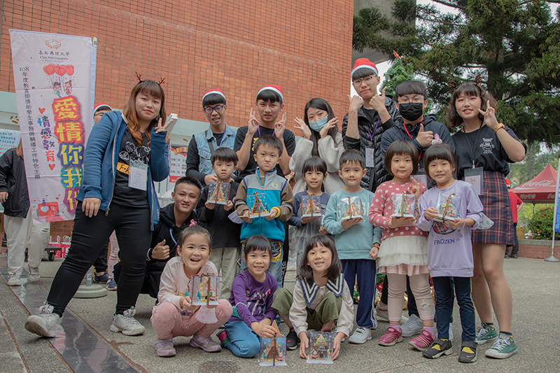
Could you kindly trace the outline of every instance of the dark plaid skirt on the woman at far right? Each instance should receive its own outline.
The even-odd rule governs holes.
[[[472,232],[472,244],[513,245],[513,218],[510,195],[501,172],[484,171],[484,195],[479,196],[484,215],[494,222],[488,230]]]

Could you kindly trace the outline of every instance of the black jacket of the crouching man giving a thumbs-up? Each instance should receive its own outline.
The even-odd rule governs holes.
[[[151,297],[157,298],[160,291],[160,279],[163,269],[167,261],[177,255],[177,248],[175,241],[179,241],[181,232],[188,227],[191,220],[197,221],[197,213],[193,211],[190,216],[185,220],[181,227],[175,225],[175,216],[173,208],[175,204],[168,204],[160,211],[160,221],[155,225],[152,232],[152,243],[148,251],[148,258],[146,262],[146,278],[144,279],[144,286],[141,293],[148,293]],[[172,237],[173,234],[173,237]],[[165,239],[165,244],[169,245],[169,258],[166,260],[158,260],[151,258],[152,249]]]

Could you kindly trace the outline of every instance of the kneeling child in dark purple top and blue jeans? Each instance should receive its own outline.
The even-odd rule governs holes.
[[[260,351],[260,337],[272,338],[276,334],[272,327],[276,311],[271,306],[278,283],[266,272],[272,258],[272,246],[266,237],[249,237],[244,256],[247,269],[237,274],[232,284],[233,316],[218,338],[235,356],[253,358]]]

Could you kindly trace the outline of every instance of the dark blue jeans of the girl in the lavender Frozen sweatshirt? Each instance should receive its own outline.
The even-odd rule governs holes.
[[[453,281],[451,281],[453,279]],[[435,290],[437,337],[449,339],[449,323],[453,312],[453,288],[459,305],[463,341],[475,340],[475,306],[472,304],[470,277],[432,277]]]

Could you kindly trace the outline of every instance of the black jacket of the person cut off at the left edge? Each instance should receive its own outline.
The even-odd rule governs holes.
[[[8,149],[0,157],[0,192],[8,192],[3,203],[4,213],[14,218],[26,218],[29,211],[29,191],[23,159]]]

